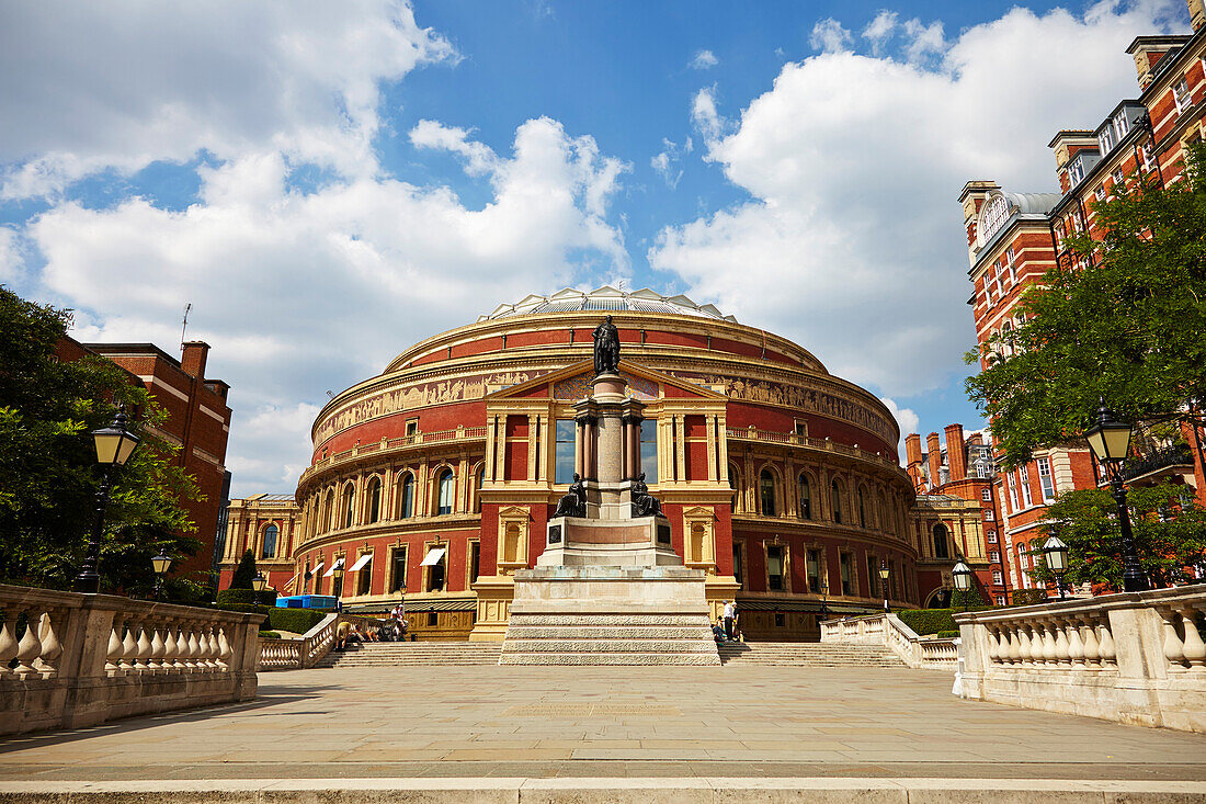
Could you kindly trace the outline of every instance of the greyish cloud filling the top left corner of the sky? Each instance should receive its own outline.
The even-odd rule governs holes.
[[[451,46],[397,0],[42,0],[0,29],[0,197],[200,150],[371,175],[382,81]]]

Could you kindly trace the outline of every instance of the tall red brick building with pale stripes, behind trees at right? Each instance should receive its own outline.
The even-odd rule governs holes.
[[[971,263],[968,304],[979,344],[995,342],[1024,320],[1017,309],[1021,293],[1056,261],[1072,258],[1064,246],[1066,238],[1085,231],[1101,237],[1095,200],[1136,175],[1164,185],[1181,177],[1185,146],[1206,134],[1206,12],[1202,0],[1188,0],[1188,6],[1192,35],[1138,36],[1126,48],[1137,71],[1136,98],[1119,101],[1095,128],[1062,129],[1048,144],[1055,153],[1059,193],[1011,192],[994,181],[964,186],[959,200]],[[1140,435],[1136,443],[1142,458],[1132,464],[1129,482],[1171,477],[1192,485],[1199,500],[1206,501],[1206,433],[1199,430],[1184,427],[1183,444]],[[1034,585],[1025,572],[1030,567],[1025,546],[1041,532],[1047,505],[1065,490],[1097,483],[1083,441],[1041,450],[1025,466],[999,473],[995,494],[1014,589]]]

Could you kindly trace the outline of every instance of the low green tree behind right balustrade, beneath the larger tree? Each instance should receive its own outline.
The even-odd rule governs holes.
[[[1206,508],[1184,485],[1165,483],[1128,493],[1131,530],[1143,572],[1153,587],[1184,582],[1184,567],[1206,569]],[[1123,536],[1113,496],[1103,489],[1065,491],[1047,509],[1046,535],[1034,540],[1029,575],[1040,583],[1055,581],[1042,558],[1047,536],[1058,535],[1069,548],[1066,583],[1097,590],[1123,588]]]

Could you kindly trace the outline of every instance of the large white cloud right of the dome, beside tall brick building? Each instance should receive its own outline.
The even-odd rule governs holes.
[[[1052,133],[1093,127],[1135,94],[1125,47],[1166,10],[1013,8],[932,66],[822,42],[727,124],[704,91],[692,120],[706,158],[750,199],[667,227],[650,264],[888,396],[943,385],[974,343],[960,188],[1054,191]]]

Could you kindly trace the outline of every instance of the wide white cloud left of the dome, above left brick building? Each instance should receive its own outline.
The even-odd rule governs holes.
[[[591,138],[549,118],[520,126],[509,156],[437,123],[412,136],[485,170],[488,202],[469,209],[447,187],[384,176],[289,192],[280,152],[246,155],[201,170],[183,211],[130,198],[36,217],[27,234],[45,295],[81,309],[84,340],[175,343],[192,302],[189,336],[213,346],[209,373],[233,386],[235,494],[288,491],[328,388],[500,299],[628,269],[605,217],[627,167]]]

